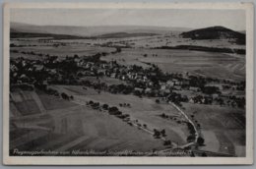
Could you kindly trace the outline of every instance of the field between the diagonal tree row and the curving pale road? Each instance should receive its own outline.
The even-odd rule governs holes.
[[[122,94],[111,94],[107,92],[101,92],[98,94],[94,89],[84,90],[82,86],[65,86],[58,85],[54,87],[61,92],[66,92],[74,95],[75,100],[87,102],[94,100],[100,103],[106,103],[111,106],[117,106],[123,113],[127,113],[131,116],[131,119],[140,124],[147,124],[151,130],[164,129],[166,131],[167,139],[174,141],[177,144],[184,144],[186,142],[188,131],[185,124],[178,124],[175,121],[170,121],[160,118],[160,114],[174,116],[182,119],[178,111],[166,103],[156,103],[155,99],[152,98],[139,98],[134,95],[122,95]],[[130,108],[120,107],[120,103],[129,103]]]

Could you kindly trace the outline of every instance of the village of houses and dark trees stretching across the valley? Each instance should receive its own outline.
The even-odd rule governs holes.
[[[115,54],[121,52],[116,48]],[[43,56],[33,52],[33,55]],[[21,54],[26,54],[25,52]],[[111,93],[135,94],[162,98],[182,107],[182,102],[195,104],[214,104],[244,109],[245,82],[231,82],[185,73],[163,73],[155,64],[147,68],[137,65],[121,65],[115,60],[100,60],[109,53],[93,56],[78,55],[60,58],[44,55],[42,60],[24,57],[10,61],[11,90],[14,87],[50,87],[51,84],[85,85]],[[90,81],[87,77],[95,77]],[[106,84],[100,78],[116,79],[120,84]],[[156,102],[159,102],[156,99]]]

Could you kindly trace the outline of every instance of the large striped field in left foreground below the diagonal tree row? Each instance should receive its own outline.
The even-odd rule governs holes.
[[[65,100],[57,100],[54,96],[47,96],[42,92],[38,95],[41,104],[50,108],[45,114],[16,117],[11,121],[15,125],[11,133],[12,148],[60,151],[71,149],[151,151],[163,148],[161,141],[105,112],[98,112]],[[60,104],[62,106],[57,106]]]

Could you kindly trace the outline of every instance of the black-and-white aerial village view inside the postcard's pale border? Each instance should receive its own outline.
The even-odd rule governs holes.
[[[244,11],[10,20],[11,156],[245,156]]]

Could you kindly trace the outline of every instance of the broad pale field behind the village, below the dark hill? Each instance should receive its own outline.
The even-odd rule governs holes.
[[[147,56],[144,56],[145,54]],[[117,60],[119,64],[135,64],[145,68],[148,63],[156,64],[162,71],[169,73],[189,72],[206,77],[243,81],[244,57],[179,49],[122,49],[121,53],[108,55],[102,59]]]

